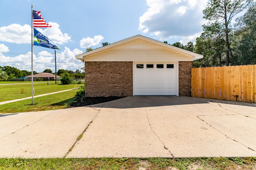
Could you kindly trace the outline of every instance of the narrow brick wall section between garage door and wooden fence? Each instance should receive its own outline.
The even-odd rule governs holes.
[[[192,61],[179,61],[179,96],[191,95]]]

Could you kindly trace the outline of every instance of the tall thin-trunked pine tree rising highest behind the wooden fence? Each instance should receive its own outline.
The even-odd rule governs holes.
[[[226,66],[229,65],[230,57],[230,32],[231,20],[236,14],[244,10],[251,0],[210,0],[203,10],[204,17],[211,23],[217,23],[224,27],[226,42]]]

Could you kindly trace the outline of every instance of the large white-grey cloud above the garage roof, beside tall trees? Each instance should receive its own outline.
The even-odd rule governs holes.
[[[207,0],[146,0],[148,11],[140,17],[139,30],[161,40],[191,39],[202,32],[202,10]],[[192,40],[194,41],[195,38]]]

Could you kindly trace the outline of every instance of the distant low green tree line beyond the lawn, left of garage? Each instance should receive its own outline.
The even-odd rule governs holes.
[[[51,69],[47,68],[43,72],[48,72],[51,74],[55,74],[55,72],[52,72]],[[38,74],[38,72],[33,71],[33,74]],[[84,78],[84,72],[81,72],[80,70],[72,71],[72,70],[64,70],[59,69],[57,72],[58,76],[62,75],[69,75],[71,78],[81,79]],[[31,71],[27,70],[19,70],[16,67],[12,66],[0,66],[0,80],[8,80],[8,79],[15,79],[15,78],[22,78],[31,75]]]

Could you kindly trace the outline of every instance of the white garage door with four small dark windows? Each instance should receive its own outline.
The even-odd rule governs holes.
[[[176,63],[134,63],[134,96],[177,95]]]

